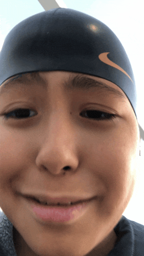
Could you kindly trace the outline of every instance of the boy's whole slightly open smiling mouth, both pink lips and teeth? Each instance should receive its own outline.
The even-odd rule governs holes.
[[[22,194],[21,194],[22,196]],[[77,196],[50,197],[46,194],[23,194],[30,212],[37,220],[53,223],[71,223],[83,216],[97,196],[84,198]]]

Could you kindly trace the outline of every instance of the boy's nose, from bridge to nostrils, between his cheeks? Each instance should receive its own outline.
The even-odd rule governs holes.
[[[39,143],[40,150],[36,157],[39,170],[47,170],[53,175],[64,174],[66,170],[76,171],[76,129],[64,113],[57,113],[50,118],[45,124]]]

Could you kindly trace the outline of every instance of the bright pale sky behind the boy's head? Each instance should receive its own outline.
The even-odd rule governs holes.
[[[55,0],[39,0],[50,3]],[[8,32],[20,21],[45,11],[38,0],[1,0],[0,2],[0,51]],[[134,72],[137,88],[138,123],[144,130],[144,44],[143,44],[143,1],[142,0],[56,0],[60,7],[87,13],[105,23],[117,35],[124,46]],[[52,7],[51,7],[52,8]],[[55,7],[53,7],[55,8]],[[139,174],[132,199],[123,215],[144,225],[144,142],[141,140]],[[143,177],[143,178],[142,178]],[[136,210],[134,210],[134,208]]]

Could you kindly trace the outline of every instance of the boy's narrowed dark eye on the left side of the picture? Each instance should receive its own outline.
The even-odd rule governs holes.
[[[18,108],[18,109],[15,109],[14,111],[4,114],[5,119],[9,119],[9,118],[23,119],[31,116],[35,116],[35,112],[29,108]]]

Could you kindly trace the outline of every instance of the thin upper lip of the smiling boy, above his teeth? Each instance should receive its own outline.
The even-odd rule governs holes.
[[[23,195],[27,198],[33,198],[39,200],[39,202],[48,202],[50,204],[68,204],[69,202],[71,203],[80,203],[80,202],[85,202],[88,200],[93,199],[94,197],[89,197],[89,198],[84,198],[84,197],[79,197],[79,196],[61,196],[61,197],[50,197],[48,195],[43,195],[43,194],[25,194]]]

